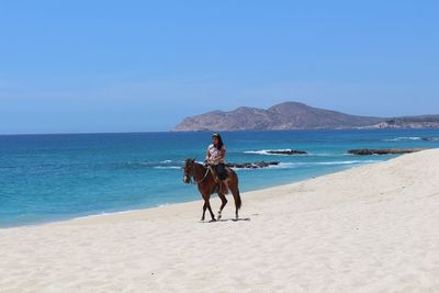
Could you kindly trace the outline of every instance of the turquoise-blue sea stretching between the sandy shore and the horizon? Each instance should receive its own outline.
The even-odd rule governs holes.
[[[281,161],[238,170],[241,192],[394,157],[346,155],[350,148],[439,147],[421,137],[439,129],[223,133],[227,161]],[[203,160],[210,142],[211,133],[0,136],[0,227],[198,200],[181,166]],[[264,153],[290,148],[309,154]]]

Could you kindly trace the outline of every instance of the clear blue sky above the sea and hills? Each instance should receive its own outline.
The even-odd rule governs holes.
[[[0,134],[300,101],[439,114],[439,1],[3,1]]]

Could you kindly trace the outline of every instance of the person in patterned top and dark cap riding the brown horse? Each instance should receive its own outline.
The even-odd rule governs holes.
[[[224,146],[223,138],[219,134],[215,133],[212,135],[212,145],[207,147],[207,154],[204,161],[214,169],[219,179],[219,190],[223,194],[228,193],[227,170],[224,165],[226,147]]]

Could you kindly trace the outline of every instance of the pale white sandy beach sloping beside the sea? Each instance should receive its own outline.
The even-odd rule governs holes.
[[[439,149],[241,195],[0,229],[0,292],[439,292]]]

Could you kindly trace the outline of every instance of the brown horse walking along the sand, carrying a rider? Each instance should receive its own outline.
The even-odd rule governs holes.
[[[183,182],[190,183],[193,179],[193,183],[198,184],[199,191],[204,200],[203,205],[203,216],[201,221],[204,221],[205,210],[209,209],[211,213],[212,221],[215,221],[215,215],[212,212],[210,198],[211,194],[217,193],[221,199],[221,207],[218,211],[218,219],[221,218],[221,213],[223,212],[224,206],[227,204],[226,196],[221,193],[219,184],[216,183],[215,177],[212,173],[211,168],[204,167],[201,164],[195,162],[195,159],[185,159],[184,160],[184,174],[183,174]],[[228,189],[232,191],[232,194],[235,200],[235,216],[238,219],[238,210],[241,206],[241,200],[239,195],[239,188],[238,188],[238,176],[232,169],[228,171]]]

